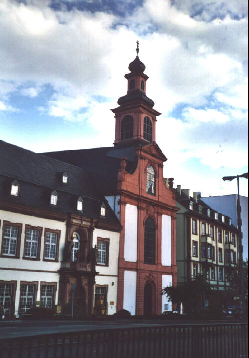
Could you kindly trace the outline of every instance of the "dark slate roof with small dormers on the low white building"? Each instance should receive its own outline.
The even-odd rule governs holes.
[[[68,184],[62,183],[62,173]],[[20,195],[10,196],[11,182],[17,179]],[[50,194],[58,193],[58,205],[50,205]],[[94,174],[75,165],[34,153],[0,141],[0,199],[60,213],[79,214],[78,197],[83,198],[82,215],[107,223],[119,224],[115,214],[95,184]],[[100,205],[105,202],[106,218],[100,217]]]

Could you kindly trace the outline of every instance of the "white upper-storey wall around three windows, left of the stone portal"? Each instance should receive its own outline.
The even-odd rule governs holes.
[[[33,270],[50,270],[57,271],[60,268],[60,261],[63,259],[63,250],[65,245],[65,236],[66,236],[66,223],[56,220],[43,219],[36,216],[23,215],[18,213],[13,213],[10,211],[0,210],[0,245],[3,240],[2,237],[2,227],[3,221],[10,221],[11,223],[21,223],[22,232],[21,232],[21,241],[20,241],[20,259],[17,262],[17,259],[9,258],[0,258],[0,267],[13,268],[18,267],[20,269],[33,269]],[[23,260],[24,252],[24,242],[25,242],[25,225],[31,226],[40,226],[42,227],[42,236],[41,236],[41,246],[40,246],[40,261],[33,260]],[[44,232],[45,228],[52,230],[60,230],[60,241],[59,241],[59,262],[46,262],[43,261],[43,250],[44,250]]]

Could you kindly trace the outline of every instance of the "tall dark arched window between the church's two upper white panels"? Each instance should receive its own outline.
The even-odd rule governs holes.
[[[156,228],[154,221],[148,217],[144,228],[144,263],[155,264]]]

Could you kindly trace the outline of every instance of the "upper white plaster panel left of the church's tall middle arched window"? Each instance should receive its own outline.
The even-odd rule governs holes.
[[[125,206],[125,245],[124,258],[126,261],[137,261],[137,207]]]

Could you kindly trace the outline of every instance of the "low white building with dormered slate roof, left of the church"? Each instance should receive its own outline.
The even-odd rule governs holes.
[[[115,313],[121,226],[91,173],[3,141],[0,152],[6,316],[34,306],[71,313],[73,289],[78,315]]]

